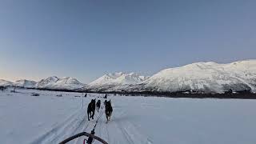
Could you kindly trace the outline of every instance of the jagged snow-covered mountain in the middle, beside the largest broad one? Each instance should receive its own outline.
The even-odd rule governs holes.
[[[140,76],[134,73],[113,73],[113,74],[105,74],[102,77],[96,79],[94,82],[90,82],[88,86],[86,86],[86,90],[91,91],[113,91],[116,87],[119,86],[130,86],[134,85],[138,82],[143,82],[148,77]]]

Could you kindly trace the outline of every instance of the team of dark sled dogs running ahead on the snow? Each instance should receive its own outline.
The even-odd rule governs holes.
[[[104,98],[107,98],[106,95]],[[105,100],[104,105],[105,105],[106,122],[109,122],[111,118],[111,114],[113,112],[113,108],[111,106],[111,100],[109,101]],[[90,118],[94,119],[95,109],[98,111],[100,110],[100,108],[101,108],[101,100],[98,100],[97,103],[96,103],[96,98],[90,101],[87,107],[88,121],[90,121]]]

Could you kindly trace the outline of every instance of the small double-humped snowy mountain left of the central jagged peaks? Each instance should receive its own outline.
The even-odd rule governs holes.
[[[75,90],[80,89],[84,86],[81,82],[79,82],[76,78],[70,77],[49,77],[46,79],[42,79],[36,84],[36,88],[40,89],[58,89],[58,90]]]

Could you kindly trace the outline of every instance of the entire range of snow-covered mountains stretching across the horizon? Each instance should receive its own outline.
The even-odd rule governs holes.
[[[161,70],[145,77],[134,73],[105,74],[89,85],[75,78],[49,77],[39,82],[0,80],[0,86],[20,86],[52,90],[87,90],[94,92],[195,92],[224,93],[251,91],[256,93],[256,60],[238,61],[227,64],[196,62],[186,66]]]

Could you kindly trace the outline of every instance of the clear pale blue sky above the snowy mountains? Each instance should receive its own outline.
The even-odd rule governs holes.
[[[124,71],[256,58],[256,1],[0,0],[0,78]]]

